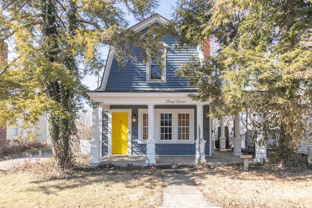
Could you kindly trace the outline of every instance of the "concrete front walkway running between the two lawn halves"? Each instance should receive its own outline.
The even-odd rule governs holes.
[[[183,173],[164,172],[162,206],[158,208],[220,208],[207,201]]]

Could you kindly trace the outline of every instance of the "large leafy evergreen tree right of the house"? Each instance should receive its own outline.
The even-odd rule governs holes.
[[[175,22],[180,45],[210,37],[219,47],[178,71],[198,86],[195,99],[212,99],[215,117],[263,115],[266,138],[278,141],[275,162],[291,162],[311,134],[312,1],[180,0]]]

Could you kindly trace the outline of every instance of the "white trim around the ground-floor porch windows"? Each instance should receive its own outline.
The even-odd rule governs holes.
[[[190,114],[189,140],[178,140],[178,113]],[[194,144],[195,141],[195,110],[194,109],[154,109],[154,133],[157,144]],[[145,144],[143,140],[142,122],[143,113],[148,113],[148,109],[138,109],[138,143]],[[160,113],[172,113],[172,140],[160,140]]]

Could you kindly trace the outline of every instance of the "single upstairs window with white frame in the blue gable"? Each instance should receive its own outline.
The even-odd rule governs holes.
[[[147,61],[147,82],[166,82],[166,55],[169,47],[164,42],[159,42],[158,51],[153,57],[150,55]]]

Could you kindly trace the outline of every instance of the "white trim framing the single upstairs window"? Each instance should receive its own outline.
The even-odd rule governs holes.
[[[151,65],[152,65],[152,58],[149,56],[147,62],[146,62],[146,82],[147,83],[166,83],[166,62],[167,62],[167,48],[169,48],[169,45],[167,45],[164,42],[158,42],[157,44],[158,49],[162,49],[162,56],[161,58],[164,60],[162,65],[162,75],[161,79],[151,79]],[[148,54],[148,51],[146,52]]]

